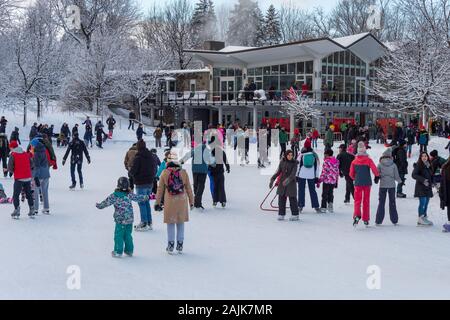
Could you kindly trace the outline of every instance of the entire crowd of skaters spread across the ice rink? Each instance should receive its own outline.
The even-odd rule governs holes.
[[[11,216],[20,216],[20,196],[27,200],[29,217],[34,218],[42,203],[42,213],[50,214],[49,180],[50,169],[57,170],[57,160],[53,150],[53,139],[56,138],[58,147],[66,147],[62,164],[70,160],[70,174],[74,189],[78,183],[83,188],[82,164],[84,159],[91,162],[88,151],[92,148],[92,132],[96,133],[97,146],[102,148],[106,139],[112,138],[115,119],[110,116],[106,121],[108,133],[104,132],[101,121],[92,129],[92,122],[87,117],[81,124],[85,127],[84,138],[79,137],[79,125],[72,130],[67,123],[61,127],[59,134],[54,134],[54,126],[37,123],[33,124],[29,133],[29,144],[26,149],[21,147],[19,129],[14,128],[8,141],[5,134],[7,120],[2,117],[0,126],[0,160],[3,163],[4,177],[14,177],[13,196],[8,198],[3,186],[0,186],[0,202],[13,203],[14,211]],[[134,120],[130,121],[133,129]],[[272,129],[278,129],[273,131]],[[136,130],[136,142],[127,150],[124,157],[124,167],[127,177],[121,177],[117,188],[104,201],[96,206],[99,209],[113,205],[114,231],[113,257],[123,254],[133,255],[132,231],[152,230],[152,208],[150,200],[154,200],[154,210],[164,211],[164,223],[167,225],[168,253],[176,250],[183,251],[185,223],[189,221],[189,210],[204,210],[203,194],[206,180],[209,178],[209,190],[213,200],[212,206],[220,204],[225,208],[227,195],[225,188],[225,173],[230,173],[230,164],[225,152],[226,147],[234,149],[238,154],[241,166],[249,164],[249,149],[253,138],[258,146],[264,145],[258,153],[258,168],[270,164],[268,152],[272,146],[280,149],[281,161],[269,183],[271,189],[277,189],[278,219],[284,220],[287,210],[287,200],[292,213],[290,220],[299,220],[299,215],[305,210],[306,187],[308,188],[311,206],[317,213],[334,212],[334,189],[337,188],[339,178],[345,180],[344,203],[354,199],[353,225],[360,220],[366,226],[370,221],[370,193],[372,183],[379,184],[378,206],[375,224],[381,225],[385,217],[385,203],[389,203],[390,221],[398,224],[397,199],[405,198],[403,193],[408,175],[408,158],[411,158],[412,146],[420,147],[420,156],[414,163],[411,177],[415,180],[414,197],[419,198],[418,221],[419,226],[430,226],[428,219],[428,204],[433,197],[433,189],[437,189],[441,208],[447,208],[448,222],[444,230],[450,231],[450,160],[441,157],[437,150],[427,153],[429,135],[425,128],[416,130],[413,126],[403,128],[397,123],[393,135],[388,143],[383,136],[376,142],[385,143],[386,149],[377,162],[368,155],[370,138],[367,127],[357,124],[341,126],[343,143],[338,146],[337,154],[333,151],[335,137],[334,125],[327,126],[323,137],[323,161],[317,152],[319,131],[312,128],[302,139],[299,131],[294,131],[289,138],[287,128],[269,122],[260,126],[258,134],[247,126],[235,122],[225,130],[223,125],[210,125],[201,132],[201,141],[195,141],[195,128],[188,123],[182,123],[179,130],[171,126],[158,126],[153,131],[155,148],[148,148],[143,140],[146,134],[142,124]],[[277,136],[274,136],[274,133]],[[179,136],[182,135],[182,137]],[[166,136],[164,159],[160,160],[157,148],[162,147],[162,137]],[[303,141],[303,142],[302,142]],[[173,150],[178,144],[184,145],[187,151],[179,158]],[[450,150],[450,142],[446,146]],[[182,149],[184,150],[184,149]],[[70,156],[70,157],[69,157]],[[192,159],[192,184],[183,169],[183,165]],[[322,186],[319,201],[318,189]],[[132,201],[139,205],[140,223],[134,224]]]

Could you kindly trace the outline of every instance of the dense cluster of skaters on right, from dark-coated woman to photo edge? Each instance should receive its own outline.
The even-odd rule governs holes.
[[[331,123],[328,125],[324,137],[323,164],[312,148],[311,132],[306,136],[298,156],[294,155],[295,147],[282,152],[282,160],[269,184],[271,189],[274,185],[277,186],[278,219],[285,219],[286,202],[289,198],[292,212],[290,220],[298,220],[299,212],[305,207],[306,185],[313,209],[317,213],[333,212],[333,190],[337,188],[340,177],[345,178],[344,203],[350,202],[350,196],[354,199],[354,226],[360,220],[363,220],[366,226],[369,225],[372,182],[380,185],[375,224],[378,226],[383,223],[386,198],[389,197],[390,220],[397,225],[396,198],[406,198],[403,188],[408,174],[408,158],[411,158],[412,145],[417,144],[420,156],[414,163],[411,173],[411,177],[415,180],[414,197],[419,199],[417,225],[433,225],[428,219],[428,204],[433,197],[433,190],[436,189],[441,208],[443,210],[447,208],[448,220],[443,229],[450,231],[450,157],[446,159],[439,156],[437,150],[427,152],[429,135],[424,127],[416,131],[414,126],[408,126],[404,130],[402,123],[399,122],[396,128],[396,132],[390,136],[391,141],[389,143],[383,141],[386,149],[378,160],[378,165],[367,153],[367,149],[371,148],[367,127],[357,125],[344,128],[344,143],[339,146],[336,157],[333,155],[333,136],[330,134],[334,131],[334,125]],[[281,141],[280,139],[280,144]],[[446,146],[446,149],[449,148],[450,142]],[[320,184],[322,184],[321,204],[316,192]]]

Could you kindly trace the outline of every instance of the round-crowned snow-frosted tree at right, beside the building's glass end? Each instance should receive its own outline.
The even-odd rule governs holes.
[[[401,114],[450,118],[450,50],[430,38],[409,41],[388,53],[377,70],[373,93]]]

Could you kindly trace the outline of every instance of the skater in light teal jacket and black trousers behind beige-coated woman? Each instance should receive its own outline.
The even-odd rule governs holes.
[[[202,209],[203,191],[205,190],[208,165],[211,163],[211,154],[206,143],[196,146],[191,152],[181,158],[181,164],[192,158],[192,178],[194,180],[194,208]]]

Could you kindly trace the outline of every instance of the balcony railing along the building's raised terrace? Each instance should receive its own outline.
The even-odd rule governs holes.
[[[311,99],[318,105],[325,106],[378,106],[383,104],[379,96],[342,91],[296,91],[297,95]],[[190,105],[190,106],[283,106],[292,100],[288,90],[255,90],[255,91],[179,91],[154,95],[151,102],[158,105]]]

